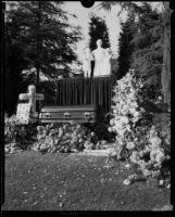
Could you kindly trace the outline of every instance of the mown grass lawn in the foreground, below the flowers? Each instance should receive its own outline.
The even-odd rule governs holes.
[[[158,210],[170,207],[170,189],[139,181],[124,186],[124,163],[104,156],[22,152],[5,156],[2,210]],[[168,208],[167,208],[168,209]]]

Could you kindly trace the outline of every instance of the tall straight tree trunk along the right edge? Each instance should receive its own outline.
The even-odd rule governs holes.
[[[162,90],[164,103],[171,103],[171,9],[170,2],[164,2],[164,47],[162,67]]]

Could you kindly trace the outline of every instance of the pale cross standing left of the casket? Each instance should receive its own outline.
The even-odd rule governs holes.
[[[28,100],[30,108],[32,108],[32,113],[35,115],[35,113],[36,113],[36,101],[37,100],[43,100],[45,95],[36,93],[36,87],[34,85],[32,85],[32,86],[28,86],[28,93],[21,93],[18,95],[18,99],[20,100]]]

